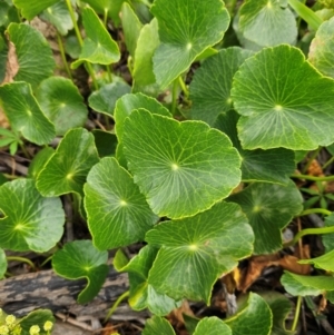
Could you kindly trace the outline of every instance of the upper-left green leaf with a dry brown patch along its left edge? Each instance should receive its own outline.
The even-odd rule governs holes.
[[[8,33],[16,46],[19,63],[14,80],[27,81],[35,89],[53,73],[56,63],[51,48],[40,31],[26,23],[9,24]]]

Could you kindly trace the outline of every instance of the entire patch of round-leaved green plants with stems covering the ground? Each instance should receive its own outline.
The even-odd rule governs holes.
[[[296,0],[226,4],[0,3],[8,18],[0,21],[0,61],[7,69],[0,78],[11,77],[0,87],[0,106],[12,129],[1,135],[13,134],[22,146],[46,147],[32,159],[27,178],[0,187],[0,247],[50,250],[63,236],[60,197],[71,195],[72,210],[87,220],[91,240],[65,244],[52,257],[55,272],[87,278],[78,296],[87,303],[107,276],[107,250],[119,248],[114,266],[128,273],[130,288],[117,304],[129,297],[134,309],[155,315],[145,335],[175,334],[164,316],[184,299],[209,305],[214,284],[240,259],[282,250],[307,234],[328,234],[331,239],[334,233],[332,208],[314,208],[314,201],[303,211],[303,197],[292,180],[308,178],[318,186],[334,180],[294,174],[301,151],[318,154],[334,142],[334,19],[323,21]],[[68,78],[52,77],[47,40],[21,22],[36,16],[57,29]],[[108,22],[122,29],[128,82],[112,67],[125,53]],[[298,33],[305,29],[314,38],[303,55]],[[233,42],[235,35],[239,46]],[[13,51],[7,37],[14,46],[14,75],[9,73],[7,58]],[[72,79],[79,67],[90,78],[87,104]],[[88,111],[100,129],[84,128]],[[56,149],[55,138],[60,138]],[[314,196],[322,207],[324,197],[332,199]],[[287,225],[311,213],[325,215],[327,227],[302,230],[283,244]],[[122,248],[143,242],[128,259]],[[334,302],[334,247],[326,244],[324,255],[301,260],[321,268],[317,276],[286,272],[282,277],[286,292],[298,297],[291,333],[302,296],[324,294]],[[0,276],[6,259],[0,249]],[[190,318],[186,325],[195,335],[289,334],[284,326],[289,309],[282,295],[250,292],[233,316]]]

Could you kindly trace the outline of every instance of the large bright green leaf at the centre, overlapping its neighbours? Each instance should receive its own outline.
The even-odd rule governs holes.
[[[135,110],[124,130],[128,167],[159,216],[180,218],[206,210],[240,181],[236,149],[204,122]]]

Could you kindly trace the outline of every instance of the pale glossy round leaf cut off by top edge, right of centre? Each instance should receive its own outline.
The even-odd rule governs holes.
[[[244,37],[259,46],[293,45],[297,39],[294,13],[279,0],[246,0],[239,10]]]

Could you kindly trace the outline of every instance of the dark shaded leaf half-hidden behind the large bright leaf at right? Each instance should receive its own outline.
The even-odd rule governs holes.
[[[200,66],[189,87],[193,119],[214,125],[219,114],[232,109],[232,79],[252,55],[233,47],[220,50]]]

